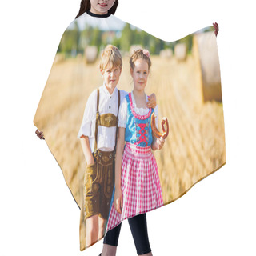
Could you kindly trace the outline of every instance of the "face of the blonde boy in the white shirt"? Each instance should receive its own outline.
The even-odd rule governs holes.
[[[121,71],[122,69],[119,66],[114,66],[112,68],[106,66],[105,70],[101,70],[102,78],[109,90],[114,90],[114,88],[118,85]]]

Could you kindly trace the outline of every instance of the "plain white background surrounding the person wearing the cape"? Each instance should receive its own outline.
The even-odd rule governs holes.
[[[118,18],[167,41],[213,22],[220,29],[227,163],[178,201],[147,214],[154,256],[256,255],[253,1],[119,2]],[[0,5],[0,256],[98,256],[102,242],[79,251],[78,206],[33,124],[58,43],[80,2],[13,0]],[[118,255],[136,255],[127,222]]]

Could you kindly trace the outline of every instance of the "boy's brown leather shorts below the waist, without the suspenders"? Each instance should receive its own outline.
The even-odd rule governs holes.
[[[94,164],[86,166],[85,218],[95,214],[107,219],[114,188],[114,151],[97,150]]]

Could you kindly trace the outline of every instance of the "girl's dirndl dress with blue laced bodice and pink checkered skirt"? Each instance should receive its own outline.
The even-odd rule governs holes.
[[[146,115],[134,111],[131,94],[126,95],[126,146],[122,155],[122,214],[111,205],[106,231],[118,226],[126,218],[163,206],[158,166],[151,151],[153,142],[150,109]]]

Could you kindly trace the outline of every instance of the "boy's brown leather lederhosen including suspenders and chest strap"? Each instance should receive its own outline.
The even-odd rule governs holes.
[[[97,112],[95,124],[94,165],[86,166],[85,174],[85,218],[95,214],[107,219],[114,187],[114,155],[118,134],[118,115],[98,112],[99,90],[97,90]],[[118,113],[120,91],[118,90]],[[98,126],[116,126],[115,146],[113,151],[97,150]]]

